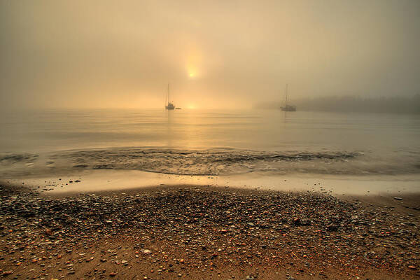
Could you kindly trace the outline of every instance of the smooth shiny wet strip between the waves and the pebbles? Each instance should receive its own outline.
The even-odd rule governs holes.
[[[23,176],[0,182],[36,186],[48,193],[96,193],[154,186],[215,186],[258,190],[310,191],[341,195],[420,194],[420,174],[348,176],[339,174],[265,174],[191,176],[137,170],[90,170],[49,176]]]

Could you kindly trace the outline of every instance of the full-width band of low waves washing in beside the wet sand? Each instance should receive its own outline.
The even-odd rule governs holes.
[[[85,169],[126,169],[177,175],[269,174],[417,174],[418,161],[374,158],[360,151],[249,151],[235,148],[104,148],[43,155],[1,154],[0,175],[50,174]]]

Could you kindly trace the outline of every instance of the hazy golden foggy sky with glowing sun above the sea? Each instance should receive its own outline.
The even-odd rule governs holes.
[[[2,0],[0,35],[1,108],[420,93],[418,0]]]

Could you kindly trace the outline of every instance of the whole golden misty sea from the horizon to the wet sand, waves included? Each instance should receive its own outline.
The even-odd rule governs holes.
[[[1,113],[0,175],[418,174],[420,116],[281,111]]]

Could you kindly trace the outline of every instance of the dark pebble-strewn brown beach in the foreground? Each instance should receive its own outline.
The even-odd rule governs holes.
[[[0,187],[5,279],[420,279],[419,207],[320,193]]]

